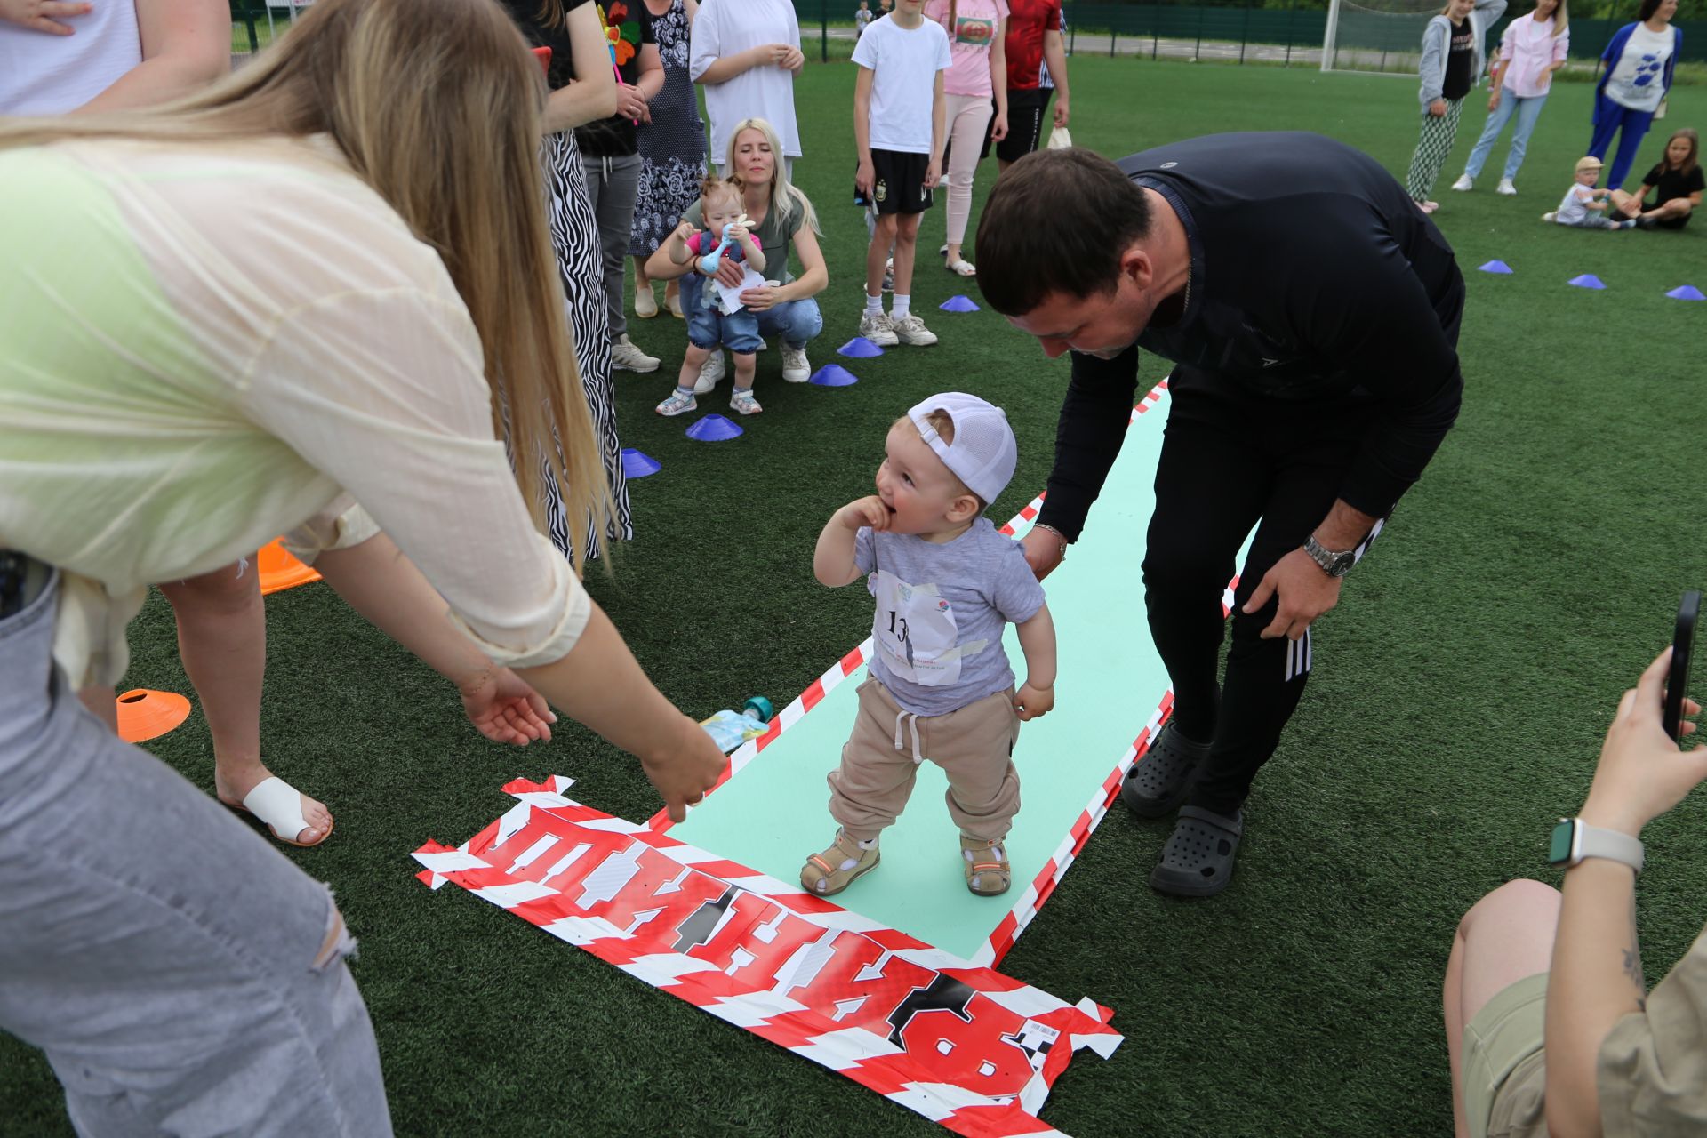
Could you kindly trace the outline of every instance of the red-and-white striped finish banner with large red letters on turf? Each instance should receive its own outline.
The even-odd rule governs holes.
[[[973,1138],[1058,1135],[1036,1112],[1072,1054],[1120,1046],[1113,1013],[1091,1000],[1067,1003],[836,906],[754,897],[743,882],[768,879],[565,798],[570,781],[509,783],[516,807],[457,850],[423,845],[418,877]]]

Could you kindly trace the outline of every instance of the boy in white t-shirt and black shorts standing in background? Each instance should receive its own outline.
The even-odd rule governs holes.
[[[874,345],[934,345],[935,333],[912,311],[918,215],[942,176],[947,104],[942,73],[949,38],[927,20],[923,0],[896,0],[888,19],[872,20],[854,46],[854,143],[859,169],[854,200],[877,213],[865,251],[865,312],[859,334]],[[883,311],[883,276],[894,249],[894,302]]]

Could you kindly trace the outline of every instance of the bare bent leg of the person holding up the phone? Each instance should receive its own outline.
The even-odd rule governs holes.
[[[1477,901],[1458,923],[1441,1000],[1458,1138],[1470,1135],[1465,1118],[1465,1025],[1502,988],[1552,966],[1558,901],[1552,885],[1512,880]]]

